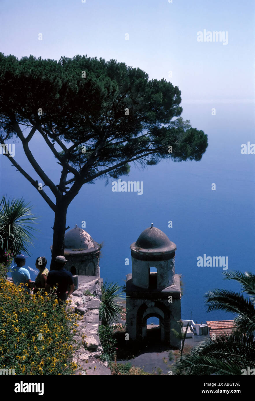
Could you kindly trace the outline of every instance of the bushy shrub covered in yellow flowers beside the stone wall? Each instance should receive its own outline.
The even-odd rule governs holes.
[[[27,286],[27,284],[26,284]],[[55,295],[29,295],[0,277],[0,369],[16,375],[72,375],[71,362],[78,314],[66,310]]]

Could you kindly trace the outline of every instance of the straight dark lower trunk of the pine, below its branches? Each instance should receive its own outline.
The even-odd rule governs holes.
[[[64,255],[65,224],[68,205],[63,201],[56,202],[55,220],[53,226],[53,243],[50,270],[55,269],[55,259]]]

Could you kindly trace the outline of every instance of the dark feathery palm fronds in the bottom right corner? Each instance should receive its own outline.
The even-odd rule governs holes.
[[[241,370],[255,363],[255,275],[250,272],[224,272],[224,279],[239,282],[247,296],[229,290],[207,292],[207,311],[224,310],[238,313],[237,329],[232,334],[208,338],[189,354],[180,357],[173,371],[188,375],[241,375]]]

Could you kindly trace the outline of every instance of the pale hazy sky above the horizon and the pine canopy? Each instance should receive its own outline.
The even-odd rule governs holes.
[[[0,51],[116,59],[171,81],[183,103],[254,102],[255,2],[169,1],[2,0]],[[226,44],[198,42],[204,29]]]

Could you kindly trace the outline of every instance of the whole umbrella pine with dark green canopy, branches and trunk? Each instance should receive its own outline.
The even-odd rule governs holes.
[[[63,254],[66,211],[84,183],[126,175],[132,162],[201,160],[207,136],[180,117],[180,103],[177,86],[116,60],[0,53],[0,143],[18,137],[37,178],[6,156],[36,190],[43,183],[38,192],[55,213],[53,258]],[[57,183],[31,153],[35,132],[62,167]]]

